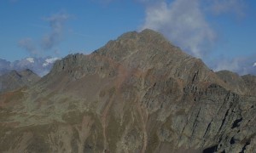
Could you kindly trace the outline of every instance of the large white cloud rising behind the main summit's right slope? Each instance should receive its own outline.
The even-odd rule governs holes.
[[[145,28],[162,32],[171,42],[196,57],[202,57],[216,37],[201,11],[200,0],[161,1],[148,6],[142,26]]]

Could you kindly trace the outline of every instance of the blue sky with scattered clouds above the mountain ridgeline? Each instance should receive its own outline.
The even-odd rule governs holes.
[[[215,71],[256,74],[254,0],[0,1],[0,59],[90,54],[126,31],[160,31]]]

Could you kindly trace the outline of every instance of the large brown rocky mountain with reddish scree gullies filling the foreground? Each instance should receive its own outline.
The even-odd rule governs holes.
[[[255,78],[128,32],[1,94],[0,152],[253,152]]]

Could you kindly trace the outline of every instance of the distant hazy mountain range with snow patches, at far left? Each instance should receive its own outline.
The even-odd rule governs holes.
[[[46,75],[58,58],[45,57],[45,58],[26,58],[9,62],[5,59],[0,59],[0,76],[9,71],[23,71],[30,69],[43,77]]]

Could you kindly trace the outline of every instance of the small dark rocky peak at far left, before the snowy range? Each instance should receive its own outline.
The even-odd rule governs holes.
[[[40,77],[31,70],[10,71],[0,76],[0,93],[13,91],[18,88],[30,86],[32,83],[38,82]]]

